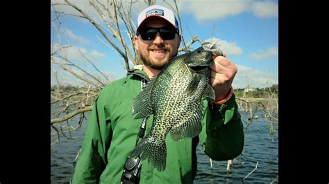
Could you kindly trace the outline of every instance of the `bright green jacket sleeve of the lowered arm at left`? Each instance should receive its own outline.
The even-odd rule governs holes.
[[[101,95],[101,94],[100,94]],[[109,114],[98,96],[85,132],[85,138],[78,156],[74,176],[70,183],[99,183],[103,169],[107,165],[107,152],[112,139]]]

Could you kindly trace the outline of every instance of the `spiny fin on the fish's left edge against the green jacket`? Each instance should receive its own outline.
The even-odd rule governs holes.
[[[135,119],[146,118],[153,113],[153,103],[151,100],[153,84],[157,75],[155,75],[134,99],[132,104],[133,114],[137,113]]]

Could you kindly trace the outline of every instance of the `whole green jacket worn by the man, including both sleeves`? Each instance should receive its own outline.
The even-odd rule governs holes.
[[[141,91],[144,71],[134,70],[106,85],[94,101],[71,183],[120,183],[124,163],[135,147],[142,119],[132,116],[133,98]],[[202,132],[199,137],[174,142],[167,136],[167,166],[158,172],[142,161],[140,183],[192,183],[196,174],[196,145],[212,160],[229,160],[242,153],[244,131],[233,95],[222,105],[203,100]],[[150,131],[153,116],[146,122]]]

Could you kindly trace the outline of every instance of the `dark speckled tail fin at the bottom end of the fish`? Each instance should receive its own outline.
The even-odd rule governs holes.
[[[135,158],[140,156],[142,160],[148,158],[149,163],[157,168],[158,171],[165,170],[167,157],[166,142],[165,140],[155,140],[152,136],[147,135],[138,143],[131,156]]]

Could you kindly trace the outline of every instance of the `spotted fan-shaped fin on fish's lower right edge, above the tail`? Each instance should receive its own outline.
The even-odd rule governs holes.
[[[186,120],[185,122],[180,123],[176,127],[171,128],[170,135],[171,138],[175,141],[182,140],[183,138],[193,138],[198,136],[201,133],[202,125],[202,110],[203,103],[196,110],[196,113]]]

